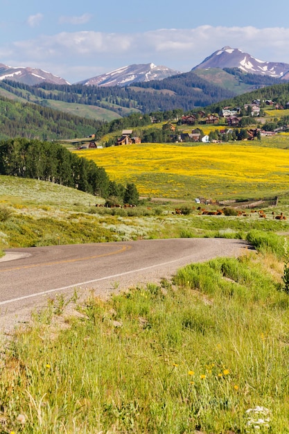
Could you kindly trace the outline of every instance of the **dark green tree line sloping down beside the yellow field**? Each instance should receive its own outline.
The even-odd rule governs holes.
[[[123,186],[111,181],[103,167],[78,157],[60,144],[23,138],[0,141],[0,175],[32,178],[130,203],[138,198],[133,183]]]

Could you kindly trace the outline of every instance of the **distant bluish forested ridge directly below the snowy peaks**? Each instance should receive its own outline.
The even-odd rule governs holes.
[[[49,100],[64,101],[110,108],[118,114],[121,114],[121,107],[126,110],[139,110],[143,114],[175,108],[191,110],[192,107],[204,107],[215,101],[234,96],[233,92],[213,85],[193,72],[149,83],[134,83],[134,86],[128,87],[52,85],[50,83],[28,86],[8,80],[0,82],[0,87],[12,95],[41,105],[46,105],[46,101]]]

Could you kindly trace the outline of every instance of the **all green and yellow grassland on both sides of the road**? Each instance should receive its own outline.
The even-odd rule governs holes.
[[[289,220],[274,218],[289,214],[287,141],[81,151],[111,179],[163,196],[133,209],[0,176],[0,249],[193,236],[252,246],[109,300],[75,288],[0,334],[1,433],[289,433]],[[267,218],[202,215],[193,200],[277,194]]]

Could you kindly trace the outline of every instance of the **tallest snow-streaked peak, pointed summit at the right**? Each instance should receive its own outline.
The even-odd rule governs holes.
[[[222,49],[209,55],[203,62],[192,69],[207,68],[240,68],[244,72],[254,73],[257,75],[270,76],[276,78],[285,78],[289,71],[288,63],[281,62],[264,62],[254,58],[240,49],[231,49],[230,46],[224,46]],[[288,74],[287,74],[288,77]],[[287,78],[288,80],[288,78]]]

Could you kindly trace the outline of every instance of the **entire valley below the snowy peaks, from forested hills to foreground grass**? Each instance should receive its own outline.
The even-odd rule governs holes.
[[[289,432],[289,87],[228,69],[0,82],[1,432]]]

